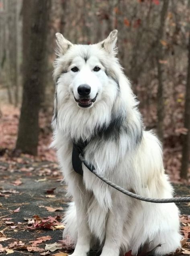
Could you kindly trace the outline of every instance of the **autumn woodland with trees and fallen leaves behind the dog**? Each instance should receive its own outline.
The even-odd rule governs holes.
[[[166,172],[190,182],[190,0],[0,0],[1,158],[57,161],[49,149],[55,33],[90,44],[113,29]]]

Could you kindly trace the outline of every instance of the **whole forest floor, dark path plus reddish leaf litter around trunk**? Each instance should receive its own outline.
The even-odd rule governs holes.
[[[73,249],[63,241],[61,219],[69,199],[55,152],[49,149],[52,134],[47,117],[41,115],[39,155],[31,157],[14,152],[18,109],[5,106],[1,111],[0,255],[66,256]],[[189,185],[178,178],[173,181],[176,196],[190,196]],[[174,255],[190,254],[190,203],[179,203],[178,207],[184,238],[182,250]],[[91,252],[92,255],[98,254]]]

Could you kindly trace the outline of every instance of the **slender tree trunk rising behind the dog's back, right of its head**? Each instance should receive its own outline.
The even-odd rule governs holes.
[[[157,134],[159,139],[163,141],[163,118],[164,118],[164,102],[163,102],[163,67],[160,60],[163,60],[163,40],[164,23],[168,10],[169,0],[163,0],[163,6],[160,16],[160,27],[158,31],[158,44],[157,44],[157,70],[158,70],[158,90],[157,90]]]

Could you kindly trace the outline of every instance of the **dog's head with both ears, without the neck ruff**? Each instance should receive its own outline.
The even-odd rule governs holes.
[[[64,94],[82,108],[92,107],[106,90],[113,89],[112,95],[116,93],[118,81],[111,68],[116,61],[116,30],[94,45],[73,45],[60,33],[56,37],[58,58],[54,77],[59,85],[57,93]]]

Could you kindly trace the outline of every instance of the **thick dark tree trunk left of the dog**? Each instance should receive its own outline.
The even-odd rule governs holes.
[[[23,95],[16,150],[37,155],[51,0],[23,1]]]

